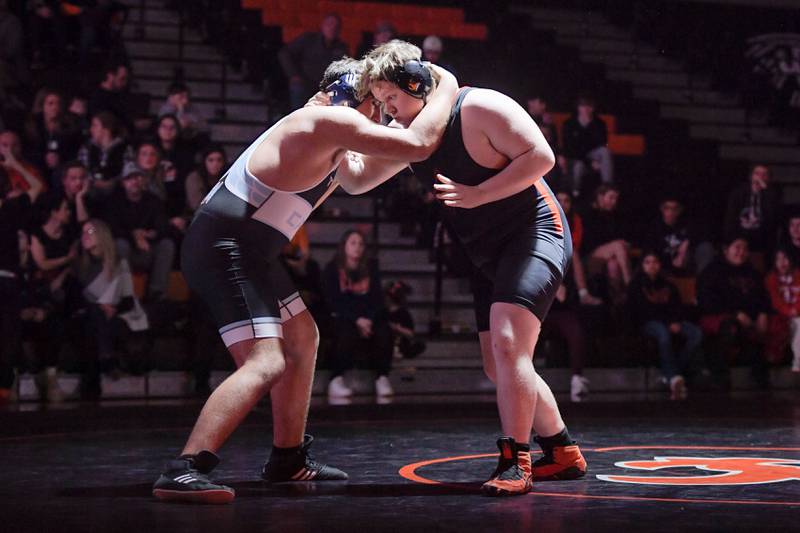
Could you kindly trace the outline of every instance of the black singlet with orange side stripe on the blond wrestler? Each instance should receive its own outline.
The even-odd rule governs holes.
[[[464,146],[461,105],[471,90],[459,93],[439,149],[427,161],[412,165],[425,187],[433,189],[437,173],[475,186],[501,170],[480,166]],[[544,179],[473,209],[441,207],[445,225],[475,267],[478,331],[489,329],[494,302],[522,305],[543,321],[572,257],[566,217]]]

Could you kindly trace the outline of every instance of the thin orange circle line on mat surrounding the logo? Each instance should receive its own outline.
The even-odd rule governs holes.
[[[771,447],[741,447],[741,446],[611,446],[607,448],[584,449],[585,452],[617,452],[622,450],[714,450],[714,451],[772,451],[772,452],[800,452],[800,448],[771,448]],[[417,470],[426,466],[441,463],[452,463],[454,461],[468,461],[472,459],[485,459],[487,457],[497,457],[496,453],[484,453],[478,455],[461,455],[458,457],[442,457],[439,459],[429,459],[419,461],[401,468],[398,473],[415,483],[424,485],[440,485],[453,488],[464,488],[463,484],[447,483],[435,479],[426,478],[417,474]],[[583,500],[627,500],[627,501],[648,501],[648,502],[671,502],[671,503],[727,503],[735,505],[777,505],[777,506],[800,506],[800,501],[757,501],[757,500],[711,500],[702,498],[651,498],[646,496],[600,496],[592,494],[567,494],[561,492],[539,492],[531,491],[529,494],[534,496],[551,496],[555,498],[572,498]]]

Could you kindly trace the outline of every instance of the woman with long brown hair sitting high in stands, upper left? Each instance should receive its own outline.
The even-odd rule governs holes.
[[[47,172],[51,183],[56,170],[75,159],[81,145],[80,130],[69,120],[58,91],[42,89],[37,93],[25,137],[31,159]]]

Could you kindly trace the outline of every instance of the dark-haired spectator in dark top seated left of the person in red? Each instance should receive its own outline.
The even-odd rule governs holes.
[[[769,295],[764,280],[748,262],[747,239],[732,237],[725,242],[722,257],[712,262],[697,280],[700,326],[713,340],[714,369],[722,378],[727,362],[750,362],[753,377],[761,386],[769,375],[762,350],[768,332]]]

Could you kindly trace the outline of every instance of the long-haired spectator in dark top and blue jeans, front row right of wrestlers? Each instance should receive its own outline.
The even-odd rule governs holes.
[[[662,273],[658,252],[642,254],[641,270],[628,286],[628,308],[633,323],[656,342],[661,372],[669,383],[672,399],[685,399],[685,377],[693,366],[703,333],[687,319],[678,288]],[[677,353],[673,349],[676,338],[681,343]]]

